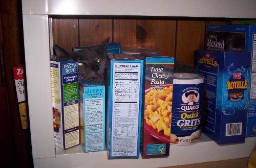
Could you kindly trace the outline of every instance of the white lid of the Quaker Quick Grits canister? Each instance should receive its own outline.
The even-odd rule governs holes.
[[[200,84],[204,76],[190,73],[174,73],[174,84]]]

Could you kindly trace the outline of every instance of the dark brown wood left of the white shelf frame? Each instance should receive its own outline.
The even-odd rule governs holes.
[[[33,167],[30,130],[22,130],[12,71],[13,66],[25,63],[21,1],[0,1],[0,11],[6,74],[5,91],[0,91],[0,111],[1,119],[6,119],[5,122],[9,122],[9,125],[0,126],[1,129],[8,131],[7,134],[0,134],[0,165],[4,167]],[[40,60],[38,60],[38,62],[39,61]],[[2,101],[2,99],[4,99],[4,101]],[[2,109],[4,110],[2,111]],[[3,113],[6,112],[5,109],[8,110],[8,113],[3,115]],[[10,139],[8,134],[12,136]],[[5,140],[6,143],[2,143],[2,140]],[[9,146],[11,147],[9,148]],[[2,147],[6,149],[2,150]],[[12,158],[8,158],[9,152]],[[9,159],[13,161],[8,161]],[[7,164],[5,164],[6,161]]]

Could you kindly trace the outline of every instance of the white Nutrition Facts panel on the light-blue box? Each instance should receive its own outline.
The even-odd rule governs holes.
[[[140,63],[114,63],[112,156],[137,155],[140,75]]]

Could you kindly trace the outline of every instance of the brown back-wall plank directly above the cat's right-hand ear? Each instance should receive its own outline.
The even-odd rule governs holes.
[[[112,19],[79,19],[80,46],[101,43],[106,37],[112,42]]]

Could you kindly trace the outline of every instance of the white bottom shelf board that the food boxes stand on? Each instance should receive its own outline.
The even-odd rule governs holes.
[[[190,146],[170,146],[170,156],[153,159],[116,159],[108,160],[106,151],[83,153],[81,146],[68,150],[56,147],[56,157],[34,159],[36,167],[165,167],[182,164],[193,164],[208,161],[227,160],[248,157],[255,145],[256,137],[246,138],[245,143],[219,146],[202,135],[200,142]],[[192,157],[194,156],[194,157]],[[196,157],[195,157],[196,156]]]

